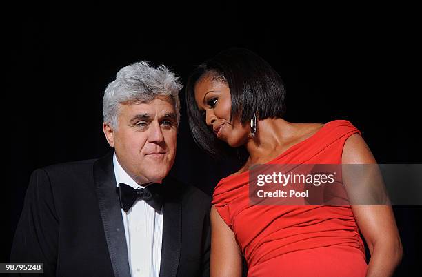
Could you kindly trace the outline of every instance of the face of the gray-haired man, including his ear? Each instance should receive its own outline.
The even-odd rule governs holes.
[[[168,97],[120,104],[117,130],[105,123],[103,131],[121,167],[137,183],[167,176],[176,156],[177,136],[176,111]]]

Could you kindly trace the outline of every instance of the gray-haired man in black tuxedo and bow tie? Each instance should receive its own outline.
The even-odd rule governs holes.
[[[163,65],[119,70],[103,97],[114,151],[33,172],[12,262],[47,276],[209,276],[210,197],[167,176],[181,88]]]

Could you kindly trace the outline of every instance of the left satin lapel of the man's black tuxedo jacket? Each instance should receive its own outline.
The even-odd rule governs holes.
[[[125,277],[130,276],[128,247],[123,218],[121,217],[121,207],[116,193],[117,186],[112,157],[113,152],[94,163],[95,192],[114,275]]]

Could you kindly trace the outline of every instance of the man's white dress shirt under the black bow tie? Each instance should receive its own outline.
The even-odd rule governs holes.
[[[128,173],[123,170],[116,153],[113,155],[116,183],[125,183],[139,188]],[[126,213],[121,209],[128,245],[130,273],[136,277],[159,277],[161,243],[163,237],[163,211],[157,212],[145,201],[136,201]]]

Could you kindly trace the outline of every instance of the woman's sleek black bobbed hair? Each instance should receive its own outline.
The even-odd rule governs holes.
[[[257,119],[281,118],[285,114],[285,88],[279,74],[254,52],[244,48],[230,48],[199,65],[186,83],[186,105],[190,130],[194,141],[211,156],[232,156],[226,143],[219,141],[206,125],[195,101],[194,86],[212,73],[227,83],[232,107],[230,121],[239,119],[242,125]]]

